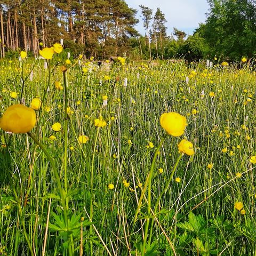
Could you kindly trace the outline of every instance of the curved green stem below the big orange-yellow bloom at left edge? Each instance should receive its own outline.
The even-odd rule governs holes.
[[[58,174],[58,171],[57,171],[57,168],[56,168],[56,165],[54,163],[54,160],[53,158],[50,156],[50,154],[47,152],[46,148],[43,146],[43,144],[34,137],[34,135],[32,135],[30,132],[28,132],[28,135],[31,139],[34,140],[34,142],[42,149],[42,151],[44,152],[45,156],[48,158],[51,166],[52,166],[52,169],[53,169],[53,173],[55,175],[55,179],[57,181],[57,186],[58,186],[58,189],[59,189],[59,193],[60,193],[60,198],[61,198],[61,203],[62,203],[62,207],[63,207],[63,213],[64,213],[64,219],[65,219],[65,223],[66,223],[66,229],[68,230],[68,213],[67,213],[67,209],[66,209],[66,193],[64,194],[63,193],[63,189],[61,187],[61,183],[60,183],[60,176]],[[72,251],[72,248],[69,246],[69,255],[73,255],[73,251]]]

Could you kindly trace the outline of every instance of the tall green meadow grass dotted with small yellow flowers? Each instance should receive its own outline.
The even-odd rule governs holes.
[[[256,255],[252,66],[215,61],[206,68],[181,59],[106,70],[73,60],[64,74],[60,66],[57,60],[49,69],[43,60],[1,63],[1,112],[20,102],[22,85],[25,105],[43,100],[31,137],[46,151],[30,134],[1,131],[0,254]],[[170,111],[186,116],[188,126],[156,151],[165,136],[159,117]],[[106,126],[94,125],[100,118]],[[80,135],[89,140],[79,142]],[[195,154],[180,157],[167,183],[183,138]]]

